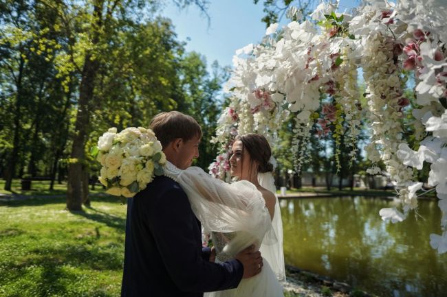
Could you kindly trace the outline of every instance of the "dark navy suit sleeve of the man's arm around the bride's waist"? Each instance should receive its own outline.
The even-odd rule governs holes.
[[[149,226],[168,274],[185,292],[212,292],[239,285],[243,265],[232,260],[211,263],[195,242],[195,216],[186,193],[169,189],[150,210]]]

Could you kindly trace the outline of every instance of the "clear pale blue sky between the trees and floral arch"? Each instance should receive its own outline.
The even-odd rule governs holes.
[[[231,66],[237,49],[259,43],[265,34],[262,0],[257,5],[253,0],[210,0],[209,25],[195,6],[179,10],[172,1],[166,3],[162,16],[172,20],[178,39],[186,41],[186,51],[197,51],[206,57],[208,71],[214,60],[221,66]],[[356,0],[340,0],[341,10],[356,6]],[[281,23],[286,22],[284,17]]]

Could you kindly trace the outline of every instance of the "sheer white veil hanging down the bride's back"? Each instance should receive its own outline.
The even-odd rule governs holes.
[[[283,222],[281,220],[281,209],[279,208],[278,196],[276,195],[274,178],[271,172],[266,172],[263,174],[258,174],[258,181],[261,187],[271,191],[276,196],[271,231],[274,232],[277,239],[273,243],[263,241],[259,250],[261,251],[262,257],[264,257],[272,267],[272,270],[276,274],[276,278],[278,278],[279,281],[285,281]]]

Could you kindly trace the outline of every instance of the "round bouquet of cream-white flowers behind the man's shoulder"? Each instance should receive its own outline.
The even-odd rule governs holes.
[[[131,198],[163,174],[166,156],[151,129],[131,127],[117,133],[110,128],[91,149],[102,165],[98,180],[106,193]]]

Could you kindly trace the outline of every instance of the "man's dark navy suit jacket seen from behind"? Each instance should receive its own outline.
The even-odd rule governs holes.
[[[199,297],[237,287],[243,265],[210,263],[201,228],[177,182],[157,176],[129,199],[122,297]]]

